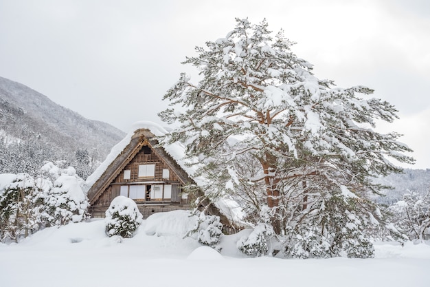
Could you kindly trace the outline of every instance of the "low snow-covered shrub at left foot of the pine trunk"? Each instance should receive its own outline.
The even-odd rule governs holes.
[[[258,224],[248,237],[238,240],[238,249],[249,256],[257,257],[266,255],[269,251],[268,241],[273,235],[273,228],[269,224]]]

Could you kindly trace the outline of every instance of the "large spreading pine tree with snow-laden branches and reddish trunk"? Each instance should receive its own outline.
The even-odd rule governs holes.
[[[348,222],[321,214],[341,200],[346,204],[334,210],[339,219],[346,213],[359,218],[349,233],[359,240],[378,218],[365,195],[381,185],[370,178],[400,172],[388,158],[414,161],[403,155],[411,150],[398,134],[372,129],[375,119],[397,118],[396,109],[365,99],[373,92],[367,87],[318,79],[312,65],[291,52],[293,43],[282,31],[271,36],[265,20],[236,22],[227,36],[196,47],[197,56],[183,62],[202,79],[192,83],[181,74],[164,96],[172,107],[159,116],[180,124],[165,142],[185,142],[190,162],[204,162],[196,176],[206,179],[207,196],[232,193],[247,203],[254,223],[270,223],[278,235],[317,226],[307,229],[334,233],[334,239],[343,229],[333,224]],[[251,169],[244,159],[253,160]]]

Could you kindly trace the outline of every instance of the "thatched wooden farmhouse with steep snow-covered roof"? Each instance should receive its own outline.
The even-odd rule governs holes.
[[[135,123],[132,132],[113,147],[86,182],[92,217],[104,217],[118,195],[135,200],[144,218],[152,213],[192,208],[193,195],[184,192],[183,187],[199,187],[202,179],[193,177],[196,166],[185,164],[185,147],[180,142],[159,146],[156,138],[167,133],[155,123]],[[205,200],[201,204],[227,226],[240,221],[240,206],[233,200]]]

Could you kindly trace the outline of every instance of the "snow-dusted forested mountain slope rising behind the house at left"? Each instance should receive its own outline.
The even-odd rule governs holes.
[[[0,77],[0,173],[33,173],[45,160],[91,165],[104,160],[124,135]],[[78,171],[83,177],[89,172]]]

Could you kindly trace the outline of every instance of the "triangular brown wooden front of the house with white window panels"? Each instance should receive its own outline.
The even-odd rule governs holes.
[[[166,151],[157,147],[148,129],[138,129],[106,171],[89,189],[92,217],[104,217],[113,198],[124,195],[135,200],[139,211],[152,213],[190,209],[183,186],[194,183]]]

